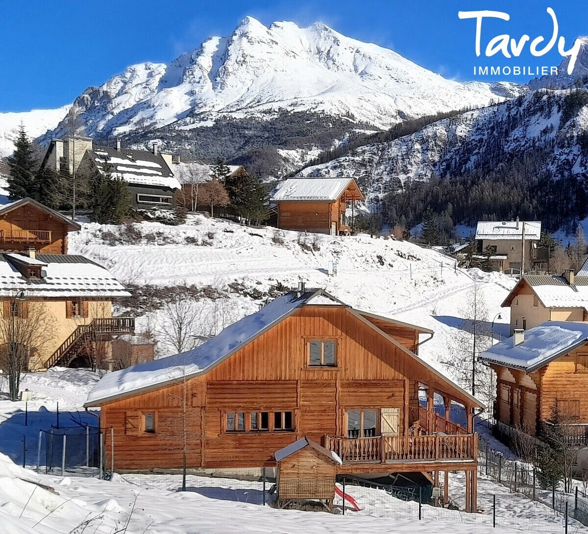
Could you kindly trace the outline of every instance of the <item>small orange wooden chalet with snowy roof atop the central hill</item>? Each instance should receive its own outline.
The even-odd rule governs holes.
[[[363,200],[363,194],[353,178],[290,178],[270,200],[278,206],[278,228],[338,236],[353,229],[355,201]]]

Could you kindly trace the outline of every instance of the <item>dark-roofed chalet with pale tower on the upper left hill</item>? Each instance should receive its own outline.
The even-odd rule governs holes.
[[[123,149],[116,146],[95,146],[90,137],[52,139],[41,163],[57,172],[99,172],[119,177],[128,182],[131,203],[137,209],[175,207],[180,183],[172,167],[179,156],[153,150]]]

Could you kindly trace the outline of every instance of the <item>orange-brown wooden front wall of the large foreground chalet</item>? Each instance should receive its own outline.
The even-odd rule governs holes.
[[[309,367],[312,338],[336,340],[336,367]],[[114,428],[115,469],[176,468],[182,448],[171,422],[189,421],[188,466],[205,468],[275,465],[273,453],[302,436],[321,441],[346,435],[346,411],[399,408],[399,434],[418,419],[418,383],[466,402],[435,372],[378,334],[342,306],[305,306],[260,335],[206,375],[102,407],[107,436]],[[449,389],[449,391],[447,391]],[[467,404],[467,402],[466,402]],[[409,411],[406,411],[409,407]],[[227,412],[291,411],[292,431],[226,431]],[[126,418],[153,412],[155,434],[125,434]],[[135,419],[136,420],[136,419]],[[143,447],[148,454],[143,456]],[[193,450],[192,450],[193,448]],[[154,463],[155,451],[159,451]],[[106,454],[110,454],[106,446]],[[109,459],[107,460],[110,461]]]

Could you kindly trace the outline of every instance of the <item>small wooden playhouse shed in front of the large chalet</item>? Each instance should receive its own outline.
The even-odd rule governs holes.
[[[327,501],[335,498],[337,466],[342,462],[305,437],[276,451],[278,499],[283,501]]]

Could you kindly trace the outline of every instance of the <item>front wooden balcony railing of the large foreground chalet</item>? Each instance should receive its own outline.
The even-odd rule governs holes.
[[[477,434],[377,438],[325,436],[325,448],[335,451],[343,464],[473,461],[477,456]]]

